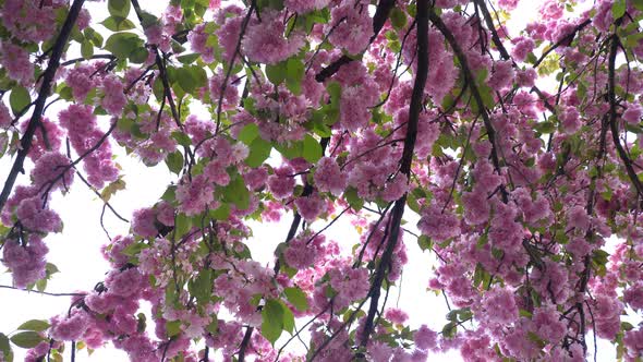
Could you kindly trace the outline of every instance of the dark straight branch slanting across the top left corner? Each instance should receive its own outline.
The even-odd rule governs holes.
[[[70,8],[70,12],[62,24],[62,28],[60,29],[60,35],[58,39],[56,39],[56,44],[51,49],[51,58],[49,58],[49,64],[47,65],[47,70],[43,76],[43,85],[40,86],[40,92],[38,92],[38,98],[36,99],[36,105],[34,107],[34,112],[32,113],[32,119],[27,124],[27,129],[25,130],[24,135],[20,140],[20,149],[15,157],[15,161],[13,161],[13,166],[11,167],[11,171],[9,171],[9,176],[7,177],[7,181],[4,181],[4,186],[2,188],[2,192],[0,193],[0,212],[4,208],[4,204],[9,198],[9,194],[11,194],[11,190],[13,190],[13,185],[15,184],[15,180],[17,179],[19,172],[24,172],[23,166],[29,149],[32,149],[32,141],[36,133],[36,129],[40,125],[40,120],[43,119],[43,112],[45,109],[45,104],[47,102],[47,98],[49,97],[49,92],[51,92],[51,85],[53,84],[56,77],[56,71],[60,65],[60,58],[62,57],[64,49],[68,45],[68,40],[76,20],[78,19],[78,14],[81,9],[83,8],[83,3],[85,0],[74,0]]]

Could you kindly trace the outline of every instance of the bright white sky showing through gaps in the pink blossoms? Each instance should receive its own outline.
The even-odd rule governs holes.
[[[141,1],[142,7],[154,14],[160,14],[166,3],[167,0]],[[521,5],[514,12],[514,19],[508,24],[512,35],[515,35],[515,29],[523,27],[533,16],[537,15],[538,3],[538,1],[521,1]],[[86,2],[86,7],[94,17],[94,27],[97,31],[104,29],[97,23],[108,16],[106,2]],[[133,11],[130,17],[137,24]],[[70,56],[69,58],[73,57]],[[60,107],[51,107],[47,116],[56,117],[59,110]],[[102,126],[107,128],[108,120],[106,118],[102,118],[100,122]],[[114,146],[113,149],[114,152],[121,152],[118,146]],[[0,170],[2,170],[0,172],[2,179],[0,182],[4,181],[5,173],[10,168],[10,161],[12,160],[7,158],[0,160]],[[123,168],[128,186],[126,190],[120,191],[112,197],[111,204],[125,218],[131,218],[134,209],[156,203],[167,185],[174,180],[173,174],[168,171],[163,162],[153,168],[143,167],[136,159],[125,156],[122,152],[118,154],[117,161]],[[17,184],[27,182],[27,178],[21,176]],[[109,270],[108,263],[100,254],[100,246],[108,242],[99,224],[102,202],[76,179],[72,192],[64,198],[60,193],[56,194],[52,200],[52,208],[60,214],[64,222],[64,230],[62,233],[50,234],[45,239],[50,249],[47,256],[48,262],[56,264],[61,272],[50,280],[47,291],[74,292],[92,290],[98,281],[105,278],[106,272]],[[407,227],[415,229],[417,219],[413,213],[407,213],[404,219],[409,221]],[[291,221],[292,214],[288,214],[283,215],[279,224],[251,224],[255,237],[247,240],[247,244],[252,250],[253,257],[265,265],[271,263],[272,252],[276,245],[286,239]],[[128,233],[130,227],[117,219],[109,210],[106,212],[105,224],[112,237]],[[319,229],[325,225],[326,221],[319,220],[313,227]],[[359,240],[356,231],[342,219],[330,227],[325,234],[328,239],[338,241],[347,249],[350,249]],[[397,305],[407,311],[411,316],[410,323],[413,328],[418,327],[421,324],[427,324],[436,330],[441,330],[446,324],[445,315],[448,312],[444,298],[426,291],[427,281],[433,274],[432,267],[435,265],[435,257],[428,252],[423,253],[417,246],[415,238],[409,234],[404,237],[410,261],[402,276],[401,298],[398,299],[400,290],[396,289],[389,295],[388,305]],[[3,268],[0,267],[1,269]],[[0,274],[0,285],[10,286],[11,275]],[[399,304],[397,304],[398,300]],[[53,315],[65,312],[69,309],[70,299],[0,289],[0,303],[2,305],[0,309],[0,331],[9,334],[27,319],[48,319]],[[301,326],[306,321],[302,319],[298,325]],[[148,330],[151,330],[149,329],[151,325],[148,322]],[[592,340],[591,334],[587,336],[587,340]],[[277,346],[280,347],[282,343],[283,336],[277,342]],[[293,341],[292,346],[298,345],[294,345]],[[604,341],[599,342],[599,347],[602,347],[598,354],[600,361],[616,359],[611,345]],[[589,350],[592,351],[593,346],[590,345]],[[21,361],[24,350],[14,349],[14,353],[15,361]],[[65,358],[69,358],[69,348]],[[87,358],[85,351],[77,353],[78,361],[87,359],[90,361],[128,361],[124,352],[116,350],[111,346],[95,351],[90,358]],[[459,361],[460,354],[458,351],[452,351],[448,354],[429,357],[429,360]]]

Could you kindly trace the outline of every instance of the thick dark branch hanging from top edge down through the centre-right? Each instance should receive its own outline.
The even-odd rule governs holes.
[[[404,140],[404,149],[402,150],[402,159],[400,165],[400,172],[405,174],[408,179],[411,176],[411,164],[413,161],[413,150],[415,148],[415,140],[417,137],[417,123],[420,121],[420,112],[424,102],[424,87],[428,79],[428,0],[417,1],[417,14],[415,21],[417,23],[417,73],[415,74],[415,83],[413,84],[413,93],[411,95],[411,105],[409,106],[409,124],[407,126],[407,137]],[[391,228],[388,243],[377,270],[368,294],[371,295],[371,306],[364,323],[364,333],[362,334],[361,346],[368,343],[368,338],[373,333],[375,325],[375,314],[379,302],[379,294],[381,292],[381,283],[385,275],[390,267],[393,249],[398,243],[398,236],[400,234],[400,225],[402,216],[404,215],[404,206],[407,205],[405,192],[402,197],[396,201],[391,214]]]

